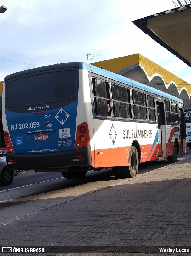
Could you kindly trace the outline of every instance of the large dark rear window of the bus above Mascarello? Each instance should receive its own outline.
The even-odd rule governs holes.
[[[6,84],[6,105],[26,105],[74,99],[77,96],[78,72],[65,70],[33,74]]]

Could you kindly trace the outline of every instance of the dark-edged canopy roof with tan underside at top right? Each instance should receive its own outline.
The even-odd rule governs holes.
[[[191,67],[191,4],[134,20],[133,24]]]

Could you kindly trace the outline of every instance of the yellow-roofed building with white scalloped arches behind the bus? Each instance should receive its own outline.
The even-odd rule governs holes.
[[[191,85],[139,53],[91,64],[176,96],[191,108]]]

